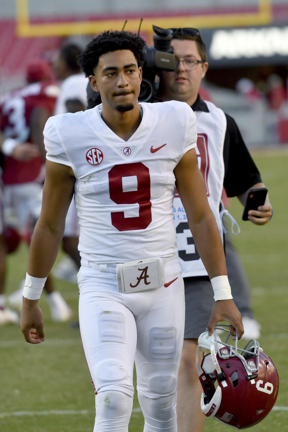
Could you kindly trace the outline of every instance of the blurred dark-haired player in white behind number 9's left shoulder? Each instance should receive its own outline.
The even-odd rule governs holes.
[[[85,111],[87,108],[86,87],[89,81],[77,63],[80,53],[81,48],[77,45],[65,44],[54,59],[54,70],[61,81],[60,95],[57,98],[54,115]],[[60,279],[77,282],[76,273],[80,268],[78,242],[79,220],[72,200],[66,216],[62,241],[63,251],[67,256],[53,271],[54,275]]]

